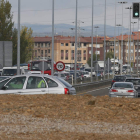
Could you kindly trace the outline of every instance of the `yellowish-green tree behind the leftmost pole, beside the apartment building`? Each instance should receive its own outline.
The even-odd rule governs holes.
[[[33,52],[32,29],[23,26],[20,32],[20,63],[28,62]],[[17,64],[17,29],[13,31],[13,65]]]

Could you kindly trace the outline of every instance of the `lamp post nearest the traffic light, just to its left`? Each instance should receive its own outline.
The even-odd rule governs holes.
[[[131,53],[130,53],[130,50],[131,50],[131,9],[132,9],[132,7],[127,7],[127,8],[125,8],[125,9],[129,9],[130,10],[130,43],[129,43],[129,52],[128,52],[128,54],[129,54],[129,56],[128,56],[128,61],[129,61],[129,65],[130,65],[130,74],[131,74]]]

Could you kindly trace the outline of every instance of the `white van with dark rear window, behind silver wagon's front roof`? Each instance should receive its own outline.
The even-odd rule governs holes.
[[[25,74],[23,67],[20,67],[20,75]],[[14,76],[17,75],[17,67],[3,67],[2,76]]]

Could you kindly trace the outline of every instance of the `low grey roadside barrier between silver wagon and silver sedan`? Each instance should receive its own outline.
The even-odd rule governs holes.
[[[84,91],[87,91],[87,90],[95,89],[97,87],[99,88],[99,87],[102,87],[102,86],[111,85],[111,81],[112,81],[112,79],[98,81],[98,82],[94,81],[94,82],[90,82],[90,83],[73,85],[73,87],[75,87],[76,92],[79,93],[81,91],[84,92]]]

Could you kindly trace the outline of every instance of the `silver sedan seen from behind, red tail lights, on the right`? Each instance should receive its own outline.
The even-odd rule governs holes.
[[[109,97],[138,97],[138,92],[135,90],[131,82],[115,82],[109,90]]]

